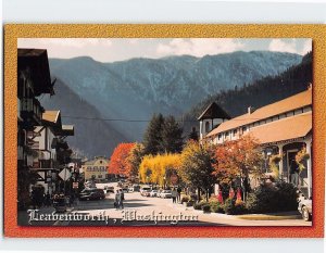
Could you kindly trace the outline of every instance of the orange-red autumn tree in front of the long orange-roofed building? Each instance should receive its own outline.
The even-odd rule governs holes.
[[[231,185],[240,179],[243,195],[249,190],[249,175],[260,178],[263,155],[260,143],[250,135],[227,141],[215,148],[215,175],[221,184]]]

